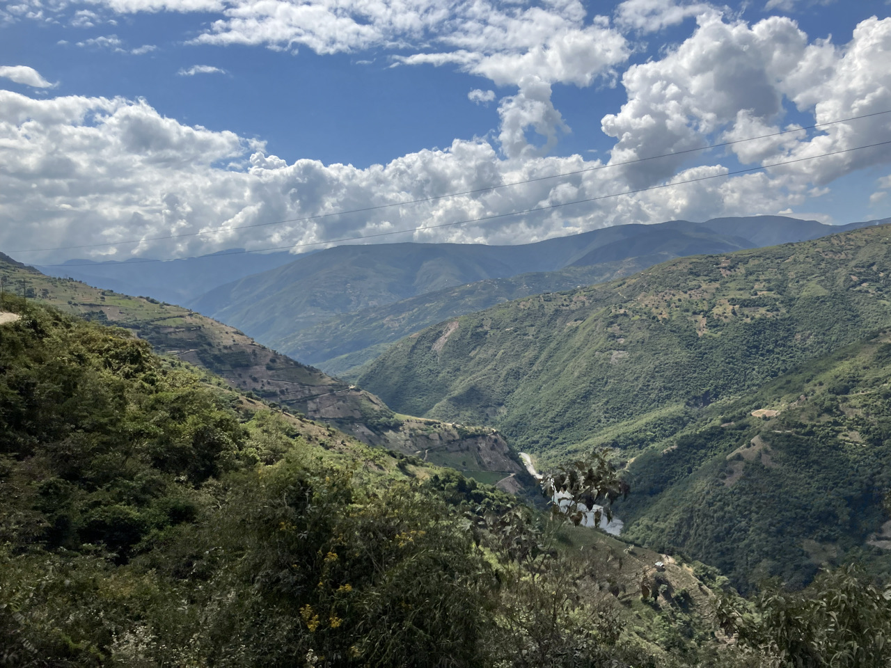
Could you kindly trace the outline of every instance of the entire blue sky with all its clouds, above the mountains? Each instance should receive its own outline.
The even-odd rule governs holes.
[[[891,216],[891,147],[860,148],[891,140],[887,114],[267,224],[891,110],[889,12],[885,0],[13,0],[0,5],[0,250],[52,262],[418,227],[373,240]],[[503,216],[528,208],[547,209]],[[490,216],[503,217],[436,227]],[[69,246],[86,248],[23,252]]]

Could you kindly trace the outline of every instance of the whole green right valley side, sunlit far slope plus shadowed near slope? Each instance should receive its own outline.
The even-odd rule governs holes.
[[[625,535],[745,591],[849,559],[887,574],[891,368],[885,335],[858,343],[891,322],[885,234],[495,306],[404,339],[359,382],[397,410],[494,424],[545,466],[617,449]]]

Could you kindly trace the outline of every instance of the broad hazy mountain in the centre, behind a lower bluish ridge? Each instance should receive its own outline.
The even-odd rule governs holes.
[[[789,221],[799,235],[800,221]],[[782,223],[772,223],[783,229]],[[823,233],[830,225],[813,223]],[[272,346],[334,315],[354,313],[465,283],[617,262],[655,253],[661,259],[753,248],[746,221],[715,232],[672,221],[607,227],[517,246],[398,243],[339,246],[210,290],[189,303]],[[816,232],[814,232],[816,233]],[[380,341],[378,342],[380,343]]]

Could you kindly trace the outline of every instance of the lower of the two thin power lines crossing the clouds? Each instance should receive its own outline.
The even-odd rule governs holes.
[[[712,175],[707,175],[707,176],[698,176],[696,178],[687,179],[686,181],[677,181],[674,183],[659,183],[658,185],[650,185],[647,188],[639,188],[634,191],[612,192],[612,193],[609,193],[608,195],[598,195],[597,197],[589,197],[584,200],[573,200],[571,202],[561,202],[560,204],[550,204],[546,207],[526,208],[526,209],[522,209],[520,211],[511,211],[511,212],[504,213],[504,214],[493,214],[492,216],[471,218],[470,220],[459,220],[459,221],[454,221],[452,223],[439,223],[439,224],[435,224],[435,225],[419,225],[417,227],[406,228],[405,230],[393,230],[390,232],[377,232],[375,234],[365,234],[363,236],[356,236],[356,237],[342,237],[340,239],[329,239],[329,240],[324,240],[324,241],[310,241],[307,243],[298,243],[298,244],[293,244],[290,246],[276,246],[273,248],[253,248],[251,250],[233,250],[229,253],[217,253],[214,255],[208,255],[208,256],[202,256],[202,257],[227,257],[227,256],[231,256],[231,255],[244,255],[246,253],[266,253],[266,252],[269,252],[272,250],[290,250],[292,248],[308,248],[310,246],[322,246],[324,244],[340,243],[342,241],[377,239],[379,237],[388,237],[393,234],[405,234],[407,232],[419,232],[421,230],[434,230],[439,227],[451,227],[453,225],[463,225],[463,224],[470,224],[470,223],[487,223],[488,221],[496,220],[498,218],[506,218],[508,216],[520,216],[522,214],[530,214],[530,213],[535,213],[538,211],[549,211],[549,210],[552,210],[555,208],[569,207],[574,204],[585,204],[588,202],[595,202],[595,201],[599,201],[599,200],[609,200],[614,197],[622,197],[623,195],[636,195],[641,192],[655,191],[655,190],[660,190],[663,188],[674,188],[674,186],[685,185],[687,183],[699,183],[702,181],[710,181],[711,179],[726,178],[727,176],[748,174],[750,172],[756,172],[756,171],[760,171],[762,169],[770,169],[772,167],[782,167],[784,165],[794,165],[798,162],[805,162],[806,160],[827,158],[827,157],[833,156],[833,155],[842,155],[843,153],[850,153],[853,151],[862,151],[864,149],[872,149],[877,146],[886,146],[887,144],[891,144],[891,140],[887,140],[886,142],[871,143],[871,144],[867,144],[865,146],[856,146],[853,149],[843,149],[841,151],[830,151],[829,153],[821,153],[820,155],[807,156],[805,158],[797,158],[797,159],[792,159],[792,160],[784,160],[782,162],[774,162],[772,165],[761,165],[758,167],[746,167],[744,169],[736,169],[731,172],[724,172],[723,174],[712,174]],[[18,252],[22,252],[22,251],[18,251]],[[195,258],[195,259],[198,259],[198,258]],[[142,260],[142,261],[132,260],[127,263],[121,263],[121,265],[139,265],[139,264],[151,263],[151,262],[167,262],[167,260],[155,260],[155,259],[146,259],[146,260]],[[41,265],[41,266],[73,267],[73,266],[96,266],[96,264],[95,263],[83,263],[83,264],[79,264],[79,265],[62,264],[62,265]]]

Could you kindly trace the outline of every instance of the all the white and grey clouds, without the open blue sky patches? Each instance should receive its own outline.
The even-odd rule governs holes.
[[[789,106],[815,123],[891,109],[891,70],[884,67],[891,61],[888,19],[864,20],[847,44],[834,44],[811,40],[784,17],[749,23],[701,3],[650,0],[626,0],[613,19],[587,17],[575,0],[535,7],[485,0],[454,6],[405,0],[105,0],[104,5],[114,12],[218,12],[222,18],[197,37],[201,43],[307,47],[317,53],[392,48],[411,52],[397,53],[396,66],[451,66],[512,88],[498,101],[499,125],[490,138],[456,139],[443,150],[418,151],[365,169],[290,162],[270,154],[262,142],[165,118],[142,100],[36,100],[0,91],[0,212],[9,222],[0,229],[0,248],[16,255],[46,248],[47,239],[53,247],[103,244],[19,254],[21,259],[45,262],[72,252],[119,259],[183,257],[236,246],[324,244],[418,226],[423,229],[396,239],[516,243],[609,224],[777,213],[801,207],[856,170],[886,168],[891,156],[887,147],[879,147],[683,183],[726,175],[740,165],[806,159],[889,139],[891,115],[880,115],[818,132],[736,143],[729,153],[708,155],[711,164],[676,155],[625,165],[794,128],[784,120]],[[690,37],[619,72],[633,51],[625,32],[646,34],[694,16]],[[95,45],[123,49],[110,42]],[[180,74],[215,71],[196,65]],[[34,81],[45,81],[34,75]],[[552,102],[554,86],[614,80],[625,102],[601,118],[603,132],[614,140],[609,158],[549,155],[560,134],[571,131]],[[483,88],[468,97],[495,102],[495,93]],[[541,180],[581,170],[587,171]],[[535,181],[331,215],[527,180]],[[675,185],[571,204],[663,183]],[[881,200],[887,189],[886,181],[879,182],[873,198]],[[563,204],[568,206],[504,216]],[[295,220],[305,218],[310,219]],[[491,220],[454,224],[478,218]],[[267,224],[276,221],[291,222]],[[124,243],[134,239],[139,242]]]

